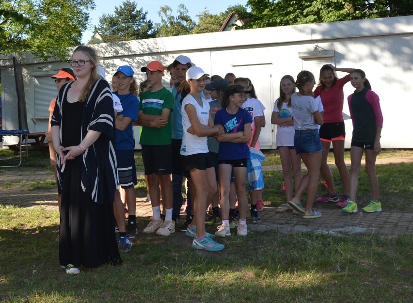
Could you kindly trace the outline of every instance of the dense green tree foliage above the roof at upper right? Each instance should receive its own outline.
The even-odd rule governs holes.
[[[413,15],[413,0],[248,0],[241,26],[262,28],[305,23]]]

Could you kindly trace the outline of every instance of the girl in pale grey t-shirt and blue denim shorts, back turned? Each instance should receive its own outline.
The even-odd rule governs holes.
[[[303,70],[298,74],[295,81],[299,92],[291,95],[291,108],[295,129],[294,147],[307,167],[308,173],[302,177],[295,196],[288,201],[288,205],[302,212],[304,219],[321,217],[321,213],[312,208],[316,197],[321,165],[321,151],[323,150],[320,136],[318,135],[318,125],[323,125],[324,123],[323,117],[318,110],[318,103],[313,97],[313,87],[315,84],[314,75],[309,71]],[[301,197],[305,190],[307,200],[305,208],[303,208]]]

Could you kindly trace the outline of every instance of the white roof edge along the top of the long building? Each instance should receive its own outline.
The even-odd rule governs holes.
[[[175,54],[194,50],[284,44],[298,41],[320,42],[328,39],[412,32],[413,16],[400,16],[101,43],[95,44],[93,47],[102,59],[109,59],[111,57],[143,57],[159,53]],[[22,57],[25,57],[26,64],[39,62],[38,59],[33,59],[30,53]],[[50,59],[50,61],[55,60]],[[0,65],[3,65],[1,60]]]

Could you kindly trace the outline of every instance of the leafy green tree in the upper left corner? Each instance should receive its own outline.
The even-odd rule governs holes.
[[[89,26],[94,0],[0,0],[2,52],[30,51],[47,60],[67,59]]]

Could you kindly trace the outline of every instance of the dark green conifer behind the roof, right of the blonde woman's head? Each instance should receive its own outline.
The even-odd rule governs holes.
[[[151,20],[146,20],[148,12],[137,9],[137,3],[126,0],[115,6],[114,15],[99,17],[97,31],[104,42],[118,42],[154,38],[156,30]]]

